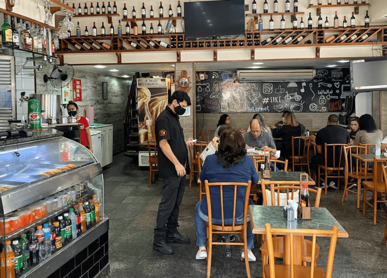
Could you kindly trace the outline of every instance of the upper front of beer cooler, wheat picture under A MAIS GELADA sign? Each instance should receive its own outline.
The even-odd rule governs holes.
[[[137,106],[139,112],[139,143],[155,140],[155,120],[168,105],[170,79],[139,78],[137,80]]]

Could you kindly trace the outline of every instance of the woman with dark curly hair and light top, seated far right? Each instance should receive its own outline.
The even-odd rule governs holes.
[[[375,144],[383,140],[383,132],[376,128],[376,123],[370,114],[364,114],[359,118],[359,131],[355,136],[354,145]],[[369,153],[375,154],[375,147],[369,147]]]

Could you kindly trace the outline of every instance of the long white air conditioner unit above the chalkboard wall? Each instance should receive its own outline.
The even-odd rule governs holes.
[[[240,69],[236,72],[242,82],[288,82],[310,81],[316,75],[315,69]]]

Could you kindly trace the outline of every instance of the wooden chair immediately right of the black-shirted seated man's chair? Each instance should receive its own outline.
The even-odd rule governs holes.
[[[344,147],[345,152],[345,170],[344,170],[344,192],[341,201],[344,202],[345,196],[348,192],[355,193],[357,195],[357,208],[360,207],[360,185],[361,180],[372,178],[372,174],[366,171],[366,167],[361,165],[361,161],[352,158],[352,154],[366,154],[366,147],[363,146],[347,146]],[[348,178],[354,178],[357,180],[357,191],[348,189]]]

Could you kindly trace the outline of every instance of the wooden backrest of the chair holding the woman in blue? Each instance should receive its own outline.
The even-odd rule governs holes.
[[[222,225],[213,225],[212,221],[208,222],[208,227],[210,230],[216,229],[221,231],[237,231],[238,226],[243,226],[244,231],[246,231],[247,227],[247,207],[248,207],[248,200],[249,200],[249,194],[250,194],[250,188],[251,188],[251,180],[249,180],[247,183],[244,182],[212,182],[209,183],[208,180],[205,180],[204,182],[206,187],[206,196],[207,196],[207,206],[208,206],[208,219],[212,219],[212,206],[211,206],[211,191],[210,187],[212,186],[220,186],[220,205],[221,205],[221,213],[222,213]],[[233,198],[233,214],[232,214],[232,225],[225,225],[224,224],[224,200],[223,200],[223,187],[230,186],[234,187],[234,198]],[[243,206],[243,224],[237,224],[235,225],[235,212],[236,212],[236,199],[237,199],[237,187],[238,186],[245,186],[246,187],[246,194],[244,196],[244,206]],[[213,188],[213,190],[216,190],[216,188]],[[229,205],[229,204],[228,204]]]

